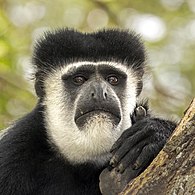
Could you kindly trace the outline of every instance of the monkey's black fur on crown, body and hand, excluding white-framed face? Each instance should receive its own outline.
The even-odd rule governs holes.
[[[33,57],[38,96],[44,96],[43,83],[48,72],[79,60],[120,61],[131,66],[141,82],[145,52],[139,37],[127,31],[103,30],[85,34],[63,29],[46,33],[37,43]],[[0,140],[0,194],[101,194],[99,175],[109,162],[102,166],[91,163],[72,165],[60,156],[47,137],[41,101],[42,98],[36,108],[14,123]],[[136,119],[135,112],[132,116],[135,124],[112,148],[110,164],[120,172],[126,166],[133,166],[138,175],[150,164],[175,128],[170,121],[150,117],[146,104],[142,106],[146,113],[138,112]]]

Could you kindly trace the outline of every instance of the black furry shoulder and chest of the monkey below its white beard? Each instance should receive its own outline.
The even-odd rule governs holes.
[[[14,124],[0,142],[0,194],[100,194],[102,167],[71,165],[48,143],[43,108]]]

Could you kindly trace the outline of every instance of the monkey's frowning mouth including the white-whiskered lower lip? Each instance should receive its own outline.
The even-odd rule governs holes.
[[[118,125],[121,121],[120,111],[113,110],[110,111],[110,109],[93,109],[93,110],[86,110],[85,112],[80,110],[75,115],[75,123],[77,126],[82,127],[85,125],[85,123],[92,119],[96,120],[98,117],[101,117],[101,120],[109,120],[112,121],[114,125]]]

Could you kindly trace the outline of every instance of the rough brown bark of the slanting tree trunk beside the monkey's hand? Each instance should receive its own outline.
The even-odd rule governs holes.
[[[195,195],[195,98],[165,147],[120,195]]]

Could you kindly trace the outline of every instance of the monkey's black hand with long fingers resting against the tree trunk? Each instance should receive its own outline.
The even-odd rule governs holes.
[[[176,124],[158,118],[137,121],[113,145],[110,166],[120,173],[131,167],[136,170],[134,177],[137,176],[163,148],[175,127]]]

